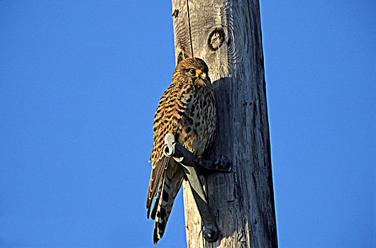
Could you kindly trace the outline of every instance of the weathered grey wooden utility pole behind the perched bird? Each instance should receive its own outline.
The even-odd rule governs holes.
[[[172,0],[176,60],[209,66],[218,115],[210,157],[232,159],[230,174],[201,176],[219,240],[206,242],[184,182],[188,247],[277,247],[269,124],[258,0]]]

